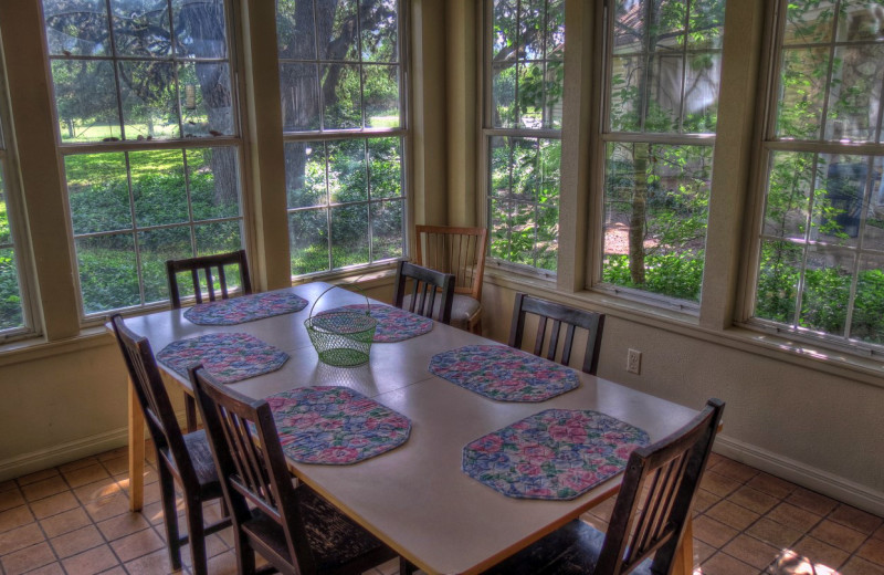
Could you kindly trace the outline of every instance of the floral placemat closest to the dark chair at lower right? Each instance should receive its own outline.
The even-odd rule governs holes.
[[[472,441],[462,469],[504,495],[569,500],[627,467],[645,431],[591,410],[547,409]]]

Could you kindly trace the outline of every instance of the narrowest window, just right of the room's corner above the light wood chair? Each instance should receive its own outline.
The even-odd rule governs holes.
[[[491,257],[555,272],[558,261],[564,0],[493,0],[483,140]]]

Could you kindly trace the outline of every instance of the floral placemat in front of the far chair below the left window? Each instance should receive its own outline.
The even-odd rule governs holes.
[[[185,317],[198,325],[236,325],[299,312],[306,305],[307,300],[292,292],[265,292],[197,304]]]

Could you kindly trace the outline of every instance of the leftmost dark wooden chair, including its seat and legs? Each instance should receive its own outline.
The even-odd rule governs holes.
[[[157,450],[166,542],[172,569],[181,568],[181,546],[190,543],[193,573],[207,575],[204,537],[230,526],[231,521],[224,518],[210,525],[203,524],[203,502],[223,495],[206,432],[181,433],[150,343],[126,327],[119,314],[114,315],[110,323]],[[176,482],[185,500],[189,535],[181,535],[178,530]]]

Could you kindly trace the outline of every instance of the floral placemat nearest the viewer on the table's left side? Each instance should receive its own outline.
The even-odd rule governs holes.
[[[348,387],[299,387],[267,398],[286,456],[346,466],[404,443],[411,421]]]

